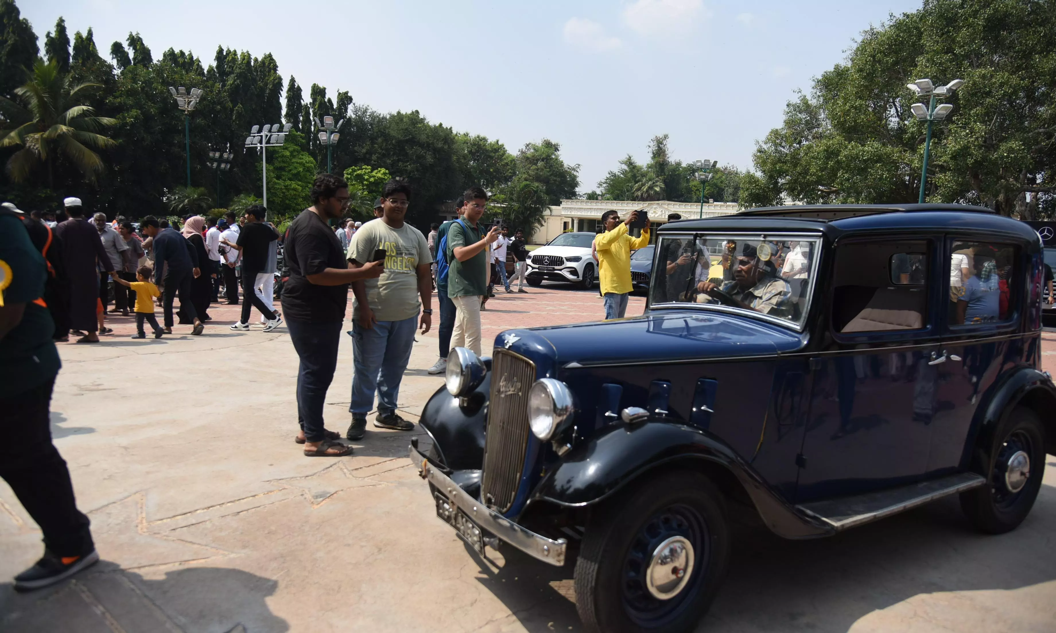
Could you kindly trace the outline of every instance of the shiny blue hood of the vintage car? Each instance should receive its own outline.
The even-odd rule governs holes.
[[[739,315],[662,310],[645,316],[508,330],[495,338],[528,357],[548,356],[558,367],[770,356],[800,349],[806,333]]]

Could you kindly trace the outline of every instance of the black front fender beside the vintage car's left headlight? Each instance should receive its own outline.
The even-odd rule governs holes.
[[[484,431],[488,420],[491,372],[465,398],[440,387],[421,410],[419,424],[433,440],[430,458],[450,470],[479,470],[484,464]]]

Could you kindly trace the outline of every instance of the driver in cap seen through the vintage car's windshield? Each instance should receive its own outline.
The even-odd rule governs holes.
[[[719,301],[709,293],[718,288],[730,295],[737,308],[754,310],[770,316],[788,318],[792,314],[789,298],[792,290],[777,276],[777,268],[771,261],[773,246],[762,242],[759,246],[744,243],[733,272],[733,280],[721,286],[711,281],[697,283],[697,301],[702,303]]]

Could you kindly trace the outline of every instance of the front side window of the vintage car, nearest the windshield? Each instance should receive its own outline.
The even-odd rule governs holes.
[[[929,249],[925,241],[837,245],[832,278],[833,330],[856,334],[925,328]]]

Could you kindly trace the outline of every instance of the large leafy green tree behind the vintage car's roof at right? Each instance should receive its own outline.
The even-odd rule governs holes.
[[[786,107],[742,179],[753,203],[916,202],[924,124],[905,83],[964,79],[935,126],[928,199],[1033,217],[1056,191],[1056,4],[926,0],[862,38]],[[1031,200],[1027,201],[1027,194]]]

